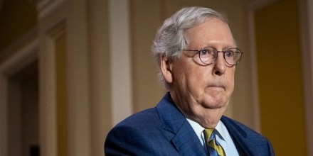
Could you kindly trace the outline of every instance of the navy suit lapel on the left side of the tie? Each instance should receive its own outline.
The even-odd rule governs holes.
[[[161,127],[171,133],[169,140],[181,155],[206,155],[204,147],[185,116],[167,93],[157,105]]]

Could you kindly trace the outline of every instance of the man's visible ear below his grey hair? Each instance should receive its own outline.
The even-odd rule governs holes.
[[[165,55],[161,55],[161,72],[163,74],[163,77],[165,79],[165,81],[169,84],[171,84],[171,82],[173,82],[173,74],[172,74],[172,62],[171,59],[169,57],[166,57]]]

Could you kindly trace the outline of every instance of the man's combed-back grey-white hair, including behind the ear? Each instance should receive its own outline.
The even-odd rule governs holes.
[[[154,60],[160,67],[161,55],[171,57],[173,59],[181,55],[181,51],[186,45],[184,38],[184,30],[194,28],[201,23],[206,22],[210,18],[218,18],[227,23],[221,13],[212,9],[203,7],[187,7],[177,11],[171,17],[167,18],[163,26],[157,30],[152,45]],[[164,80],[163,75],[159,72],[159,80],[166,89],[169,89],[169,84]]]

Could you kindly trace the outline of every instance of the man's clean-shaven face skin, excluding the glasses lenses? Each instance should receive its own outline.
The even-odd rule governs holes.
[[[213,47],[221,51],[235,47],[228,25],[218,18],[186,30],[184,37],[185,49],[189,50]],[[222,52],[211,65],[204,65],[198,52],[183,51],[181,57],[171,62],[171,72],[171,96],[184,113],[201,116],[213,109],[223,114],[233,93],[235,66],[225,62]]]

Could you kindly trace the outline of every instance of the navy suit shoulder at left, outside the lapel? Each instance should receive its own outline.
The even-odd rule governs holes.
[[[173,150],[156,108],[125,118],[107,134],[105,155],[164,155]],[[159,150],[165,149],[165,150]]]

